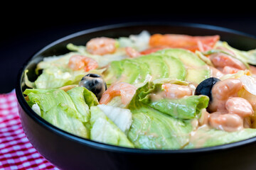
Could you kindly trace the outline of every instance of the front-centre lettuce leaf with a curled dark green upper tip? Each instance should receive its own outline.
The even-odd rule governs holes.
[[[144,93],[154,91],[149,84],[137,89],[129,103],[132,112],[132,126],[128,138],[137,148],[143,149],[181,149],[189,142],[193,130],[191,120],[174,118],[156,111],[140,100]],[[146,92],[145,92],[146,91]]]

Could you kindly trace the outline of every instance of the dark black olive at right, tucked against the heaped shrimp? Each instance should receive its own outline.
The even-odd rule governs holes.
[[[213,89],[214,84],[216,84],[220,79],[215,77],[210,77],[208,79],[203,80],[196,87],[195,95],[206,95],[210,98],[210,101],[213,100],[211,91]]]

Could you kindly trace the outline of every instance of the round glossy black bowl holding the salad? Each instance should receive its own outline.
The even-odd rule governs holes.
[[[23,64],[18,73],[16,96],[23,130],[38,152],[60,169],[256,169],[256,137],[240,142],[201,149],[151,150],[130,149],[93,142],[60,130],[34,113],[23,98],[25,69],[36,79],[33,70],[43,57],[63,55],[66,45],[85,45],[99,36],[118,38],[138,34],[176,33],[220,35],[240,50],[256,48],[256,38],[235,30],[191,23],[124,23],[83,30],[61,38],[37,52]]]

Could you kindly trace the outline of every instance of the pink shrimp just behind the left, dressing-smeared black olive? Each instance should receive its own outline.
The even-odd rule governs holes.
[[[85,69],[85,72],[89,72],[91,69],[97,69],[98,64],[90,57],[82,55],[73,55],[70,57],[68,67],[73,70]]]

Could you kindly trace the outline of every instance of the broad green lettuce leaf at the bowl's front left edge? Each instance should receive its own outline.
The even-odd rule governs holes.
[[[76,91],[78,95],[80,91]],[[89,137],[89,131],[83,125],[88,118],[77,110],[73,99],[60,89],[26,89],[23,94],[28,95],[28,105],[37,104],[41,110],[41,117],[56,127],[81,137]],[[72,93],[70,93],[72,94]],[[76,98],[76,101],[77,98]],[[80,101],[80,104],[82,100]],[[82,103],[85,106],[85,103]]]

